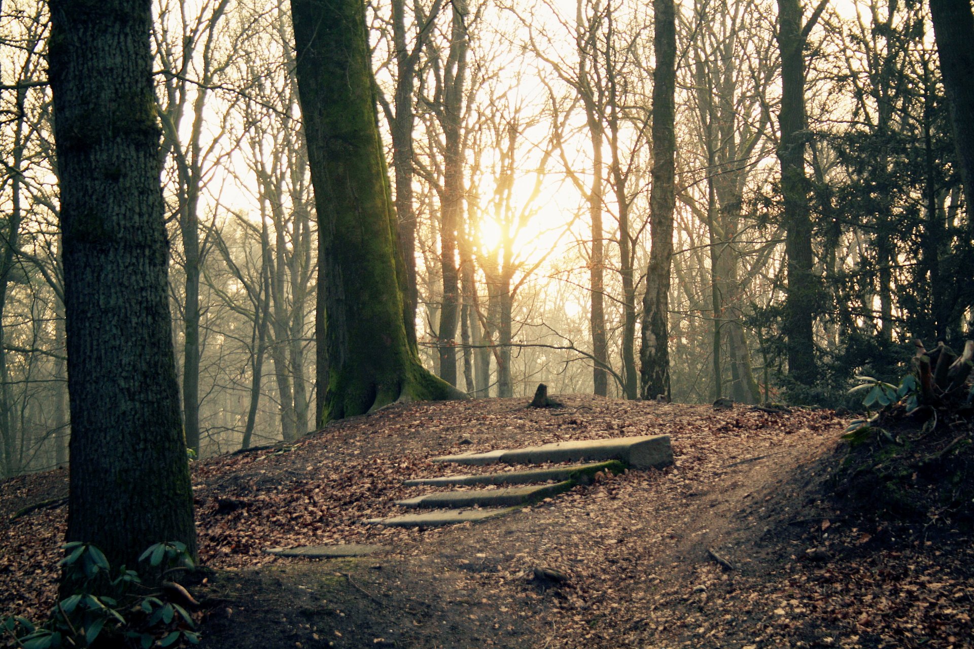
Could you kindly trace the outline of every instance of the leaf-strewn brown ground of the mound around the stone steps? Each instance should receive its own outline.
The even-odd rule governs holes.
[[[195,463],[200,555],[215,570],[190,586],[206,604],[202,646],[974,646],[971,535],[942,510],[883,523],[833,499],[842,417],[558,398],[564,408],[394,407]],[[475,525],[360,523],[420,492],[404,479],[469,472],[428,461],[438,454],[657,433],[672,436],[676,459],[662,471]],[[39,619],[52,606],[66,508],[8,521],[66,489],[64,472],[0,485],[0,617]],[[263,552],[345,542],[387,550]],[[566,579],[536,578],[536,567]]]

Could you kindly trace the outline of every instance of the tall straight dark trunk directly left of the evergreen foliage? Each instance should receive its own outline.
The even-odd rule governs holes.
[[[800,383],[816,377],[812,319],[816,300],[812,274],[811,216],[805,177],[805,34],[799,0],[778,0],[778,47],[781,51],[781,194],[784,199],[788,294],[783,325],[788,376]]]

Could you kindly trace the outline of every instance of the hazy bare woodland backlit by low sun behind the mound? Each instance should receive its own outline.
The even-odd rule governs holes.
[[[928,7],[778,4],[676,13],[669,376],[649,398],[847,406],[852,377],[905,374],[912,339],[970,330],[974,227]],[[416,339],[469,395],[545,382],[633,399],[641,364],[659,365],[640,359],[648,288],[663,290],[652,9],[367,7]],[[795,33],[779,33],[786,10]],[[48,9],[2,12],[13,476],[63,465],[70,423]],[[289,5],[161,0],[152,52],[188,444],[208,456],[297,439],[317,427],[318,220]]]

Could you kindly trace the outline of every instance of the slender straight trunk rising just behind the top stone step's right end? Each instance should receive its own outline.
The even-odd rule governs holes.
[[[673,258],[673,210],[676,207],[676,9],[673,0],[654,0],[653,190],[650,232],[653,247],[643,298],[640,392],[644,399],[670,398],[669,286]]]

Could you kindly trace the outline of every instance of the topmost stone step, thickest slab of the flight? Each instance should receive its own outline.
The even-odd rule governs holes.
[[[455,464],[540,464],[542,462],[579,462],[583,460],[618,459],[632,469],[662,468],[673,463],[669,435],[617,437],[607,440],[555,442],[526,449],[500,449],[484,453],[460,453],[431,458],[432,462]]]

